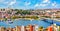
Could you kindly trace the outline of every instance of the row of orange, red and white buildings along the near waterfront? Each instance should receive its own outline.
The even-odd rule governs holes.
[[[60,31],[60,26],[53,24],[47,28],[43,28],[42,26],[38,27],[38,25],[16,26],[14,28],[0,27],[0,31]]]

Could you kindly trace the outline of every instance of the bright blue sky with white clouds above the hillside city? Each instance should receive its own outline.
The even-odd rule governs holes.
[[[0,8],[45,9],[60,8],[60,0],[0,0]]]

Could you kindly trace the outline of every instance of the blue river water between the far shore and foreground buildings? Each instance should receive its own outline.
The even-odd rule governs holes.
[[[52,22],[51,20],[47,20],[49,22]],[[54,23],[56,24],[60,24],[60,22],[57,22],[57,21],[54,21]],[[45,22],[45,21],[42,21],[42,20],[24,20],[24,19],[20,19],[20,20],[14,20],[12,24],[9,24],[5,21],[3,22],[0,22],[0,26],[4,26],[4,27],[12,27],[14,28],[15,26],[27,26],[27,25],[34,25],[34,24],[37,24],[38,26],[43,26],[44,28],[47,28],[48,26],[52,25],[51,23],[48,23],[48,22]]]

